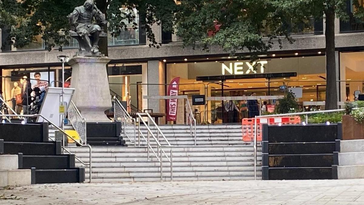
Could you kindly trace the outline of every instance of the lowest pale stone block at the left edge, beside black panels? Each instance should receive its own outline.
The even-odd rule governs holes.
[[[32,171],[30,169],[1,170],[0,166],[0,187],[30,185],[32,183]]]

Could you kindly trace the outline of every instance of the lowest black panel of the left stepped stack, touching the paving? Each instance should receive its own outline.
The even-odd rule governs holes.
[[[36,170],[36,183],[78,183],[79,168],[66,170]]]

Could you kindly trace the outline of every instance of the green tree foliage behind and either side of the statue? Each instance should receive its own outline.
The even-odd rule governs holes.
[[[68,46],[70,25],[67,15],[85,0],[2,0],[0,3],[0,27],[6,26],[9,32],[8,43],[15,47],[29,44],[34,36],[41,35],[46,49]],[[177,7],[173,0],[95,0],[96,6],[106,14],[109,22],[107,30],[118,36],[127,23],[134,22],[138,11],[139,23],[146,30],[149,46],[159,47],[152,31],[153,24],[161,24],[167,31],[172,30],[174,12]],[[137,23],[133,23],[138,28]],[[107,39],[100,39],[100,51],[107,55]]]

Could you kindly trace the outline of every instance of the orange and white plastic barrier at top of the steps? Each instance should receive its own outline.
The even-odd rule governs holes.
[[[243,141],[252,142],[254,141],[254,122],[255,118],[244,118],[242,119],[242,129],[243,129]],[[277,125],[277,124],[300,124],[301,118],[296,117],[268,117],[268,118],[258,118],[257,119],[257,141],[262,141],[262,126],[263,124]]]

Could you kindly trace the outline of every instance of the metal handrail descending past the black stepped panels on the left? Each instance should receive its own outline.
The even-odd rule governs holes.
[[[0,115],[0,117],[6,117],[6,116],[8,116],[8,117],[21,117],[21,118],[24,119],[24,123],[26,123],[26,117],[42,117],[48,123],[50,123],[55,128],[57,128],[59,131],[63,132],[63,142],[64,142],[64,135],[66,135],[68,138],[72,139],[79,146],[81,146],[81,147],[88,147],[89,150],[90,150],[90,163],[86,164],[86,163],[84,163],[81,159],[79,159],[76,156],[75,156],[75,159],[79,160],[79,162],[81,162],[85,166],[90,166],[89,169],[90,169],[90,183],[91,183],[91,180],[92,180],[92,176],[91,176],[92,175],[92,148],[91,148],[90,145],[87,145],[87,144],[86,145],[83,145],[83,144],[79,143],[75,138],[73,138],[72,136],[68,135],[66,133],[66,131],[64,131],[62,128],[58,127],[56,124],[52,123],[50,120],[48,120],[46,117],[44,117],[41,114],[36,114],[36,115]],[[52,140],[53,142],[55,142],[55,140],[52,139],[50,136],[48,136],[48,138],[50,140]],[[72,154],[70,151],[68,151],[66,148],[63,147],[63,144],[62,144],[62,150],[68,152],[69,154]]]

